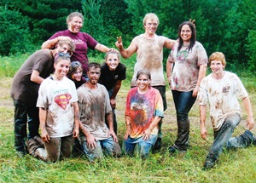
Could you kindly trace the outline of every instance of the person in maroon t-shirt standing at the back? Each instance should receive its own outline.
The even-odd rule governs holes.
[[[42,49],[51,49],[63,38],[71,38],[76,44],[76,49],[71,57],[71,61],[79,61],[83,66],[84,74],[88,70],[88,49],[96,49],[103,53],[107,52],[108,47],[98,43],[93,37],[86,32],[81,32],[84,23],[84,16],[79,12],[73,12],[67,16],[67,30],[58,31],[49,40],[42,44]]]

